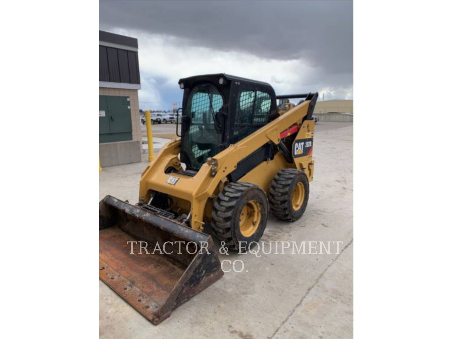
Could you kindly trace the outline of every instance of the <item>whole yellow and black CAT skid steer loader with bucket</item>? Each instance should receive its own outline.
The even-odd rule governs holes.
[[[179,86],[180,138],[141,174],[139,202],[99,202],[99,277],[154,324],[223,275],[211,235],[244,250],[270,211],[299,219],[314,172],[317,93],[276,96],[226,74]],[[304,100],[280,114],[277,99],[288,98]]]

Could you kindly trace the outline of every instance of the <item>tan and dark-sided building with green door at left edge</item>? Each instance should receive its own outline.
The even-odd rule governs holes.
[[[138,40],[99,31],[99,155],[102,167],[141,162]]]

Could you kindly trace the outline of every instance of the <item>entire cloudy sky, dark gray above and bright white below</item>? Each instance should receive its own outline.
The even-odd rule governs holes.
[[[353,98],[352,1],[100,1],[99,28],[138,38],[140,99],[176,100],[179,77],[223,71]]]

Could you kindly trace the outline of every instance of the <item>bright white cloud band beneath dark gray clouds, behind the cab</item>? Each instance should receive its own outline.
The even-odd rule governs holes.
[[[318,91],[320,97],[325,92],[325,99],[353,99],[353,86],[343,87],[346,75],[328,75],[323,68],[310,66],[303,59],[277,60],[246,52],[225,52],[193,46],[183,38],[141,31],[116,29],[115,33],[138,38],[143,88],[139,94],[140,102],[163,101],[160,92],[166,86],[175,88],[180,78],[210,73],[228,73],[265,81],[273,86],[277,94]],[[158,78],[159,82],[164,80],[160,92],[153,78]],[[169,108],[170,104],[162,103],[159,108]]]

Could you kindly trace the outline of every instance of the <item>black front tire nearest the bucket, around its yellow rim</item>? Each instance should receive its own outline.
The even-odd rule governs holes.
[[[240,232],[239,219],[243,207],[250,200],[259,203],[261,218],[254,234],[245,237]],[[267,226],[267,219],[268,200],[264,190],[250,183],[231,183],[223,188],[213,204],[212,233],[219,241],[224,241],[227,248],[239,250],[241,246],[243,252],[249,248],[250,242],[259,241]]]

